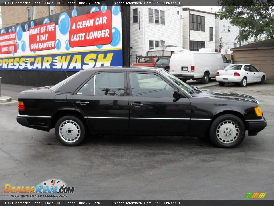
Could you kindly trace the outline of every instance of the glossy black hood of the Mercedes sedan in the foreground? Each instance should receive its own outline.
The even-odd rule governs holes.
[[[257,103],[256,99],[253,96],[245,95],[245,94],[237,94],[233,92],[224,92],[219,90],[207,90],[207,89],[199,89],[194,94],[193,97],[207,97],[207,98],[220,98],[226,100],[235,100],[241,102],[252,102]]]

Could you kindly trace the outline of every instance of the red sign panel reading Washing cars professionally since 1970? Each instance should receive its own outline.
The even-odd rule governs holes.
[[[9,33],[0,34],[0,54],[11,54],[17,52],[16,33],[11,31]]]

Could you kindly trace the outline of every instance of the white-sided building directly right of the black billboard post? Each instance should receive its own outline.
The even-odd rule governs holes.
[[[146,55],[161,43],[182,47],[182,7],[131,6],[132,55]]]

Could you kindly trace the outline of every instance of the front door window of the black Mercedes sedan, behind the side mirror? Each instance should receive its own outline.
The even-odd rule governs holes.
[[[129,73],[132,96],[172,98],[174,89],[155,74]]]

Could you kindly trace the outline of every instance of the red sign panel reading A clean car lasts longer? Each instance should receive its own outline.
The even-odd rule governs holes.
[[[71,47],[110,44],[112,41],[111,11],[97,11],[70,19]]]

